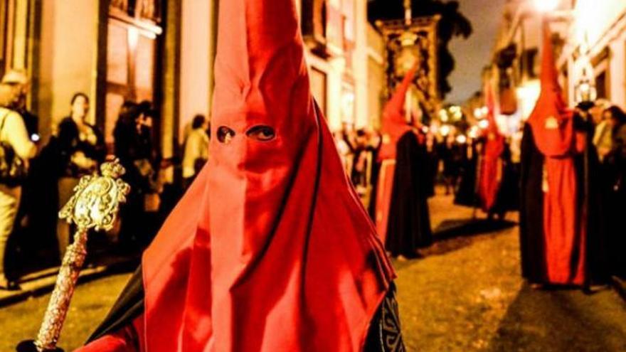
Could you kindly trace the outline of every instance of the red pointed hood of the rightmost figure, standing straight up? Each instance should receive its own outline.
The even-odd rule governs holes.
[[[573,143],[572,112],[568,110],[554,62],[554,50],[548,23],[543,23],[543,58],[541,59],[541,94],[528,123],[535,143],[548,156],[566,154]]]

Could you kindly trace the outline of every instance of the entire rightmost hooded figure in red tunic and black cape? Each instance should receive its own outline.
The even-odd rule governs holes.
[[[588,223],[579,166],[585,137],[563,101],[547,23],[543,26],[541,95],[522,140],[522,272],[537,284],[582,285]]]

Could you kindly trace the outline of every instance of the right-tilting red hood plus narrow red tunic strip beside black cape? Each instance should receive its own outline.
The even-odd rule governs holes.
[[[396,171],[396,145],[400,137],[412,129],[406,121],[404,103],[406,92],[415,77],[416,69],[411,69],[405,75],[400,85],[398,85],[398,89],[393,93],[391,100],[387,102],[383,109],[381,127],[383,140],[381,151],[378,153],[381,170],[378,174],[378,186],[376,186],[376,230],[378,230],[378,235],[383,243],[385,243],[387,237],[393,175],[394,171]]]

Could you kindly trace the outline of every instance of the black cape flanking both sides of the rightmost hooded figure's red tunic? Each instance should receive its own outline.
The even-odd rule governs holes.
[[[587,267],[589,283],[608,282],[606,255],[606,229],[602,221],[603,201],[598,189],[598,156],[590,147],[590,206],[587,222]],[[519,241],[522,277],[534,284],[548,283],[546,251],[543,233],[543,162],[544,156],[537,148],[529,124],[524,127],[521,139],[521,188],[519,208]],[[576,178],[584,180],[584,156],[575,156]],[[578,204],[584,202],[584,182],[578,182]]]

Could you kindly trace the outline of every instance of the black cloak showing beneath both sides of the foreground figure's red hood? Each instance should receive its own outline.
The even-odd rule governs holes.
[[[137,271],[134,272],[122,290],[117,302],[105,320],[102,321],[102,324],[95,329],[87,343],[124,329],[124,327],[132,324],[132,321],[140,316],[143,311],[144,284],[142,267],[139,265]],[[399,317],[396,285],[392,282],[386,297],[373,316],[366,336],[364,352],[405,351]],[[279,332],[276,331],[277,334]]]

